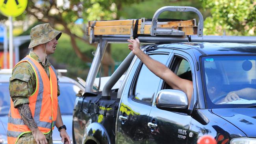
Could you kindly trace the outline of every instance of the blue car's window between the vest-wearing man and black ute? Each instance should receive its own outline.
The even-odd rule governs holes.
[[[72,114],[76,94],[80,88],[74,83],[59,83],[60,95],[58,96],[61,114]]]

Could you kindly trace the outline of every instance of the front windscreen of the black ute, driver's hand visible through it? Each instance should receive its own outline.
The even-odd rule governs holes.
[[[256,103],[256,56],[202,57],[208,104]]]

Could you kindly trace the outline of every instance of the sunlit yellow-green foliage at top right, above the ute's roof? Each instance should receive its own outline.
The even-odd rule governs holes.
[[[201,0],[211,8],[212,17],[204,21],[206,35],[256,35],[256,2],[254,0]]]

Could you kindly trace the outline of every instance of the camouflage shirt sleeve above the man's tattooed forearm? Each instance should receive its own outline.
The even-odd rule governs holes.
[[[13,105],[29,103],[28,97],[33,92],[34,72],[29,63],[23,62],[15,66],[10,78],[9,91]]]

